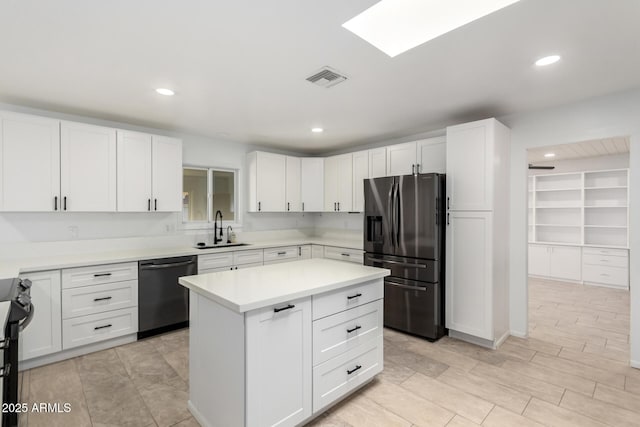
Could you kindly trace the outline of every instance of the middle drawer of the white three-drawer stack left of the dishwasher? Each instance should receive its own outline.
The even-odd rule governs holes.
[[[63,319],[136,305],[138,305],[137,280],[62,290]]]

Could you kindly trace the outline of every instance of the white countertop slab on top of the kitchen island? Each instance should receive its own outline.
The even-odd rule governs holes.
[[[368,280],[390,271],[329,259],[307,259],[240,270],[181,277],[178,282],[231,310],[243,313]]]

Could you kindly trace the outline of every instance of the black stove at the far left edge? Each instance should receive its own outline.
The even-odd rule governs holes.
[[[0,376],[3,377],[3,408],[10,408],[11,404],[14,404],[13,407],[15,407],[15,404],[18,403],[18,338],[20,332],[31,322],[34,314],[34,307],[31,303],[31,281],[28,279],[0,280],[0,301],[11,302],[4,330],[4,341],[1,343],[4,350],[4,363],[0,368]],[[18,413],[3,411],[2,426],[14,427],[17,425]]]

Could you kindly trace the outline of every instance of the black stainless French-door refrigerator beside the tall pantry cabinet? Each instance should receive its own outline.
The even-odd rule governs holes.
[[[444,327],[445,175],[364,181],[365,265],[384,280],[384,325],[435,341]]]

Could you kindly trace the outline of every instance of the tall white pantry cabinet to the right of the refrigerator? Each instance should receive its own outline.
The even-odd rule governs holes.
[[[509,331],[509,142],[495,119],[447,128],[446,326],[492,348]]]

